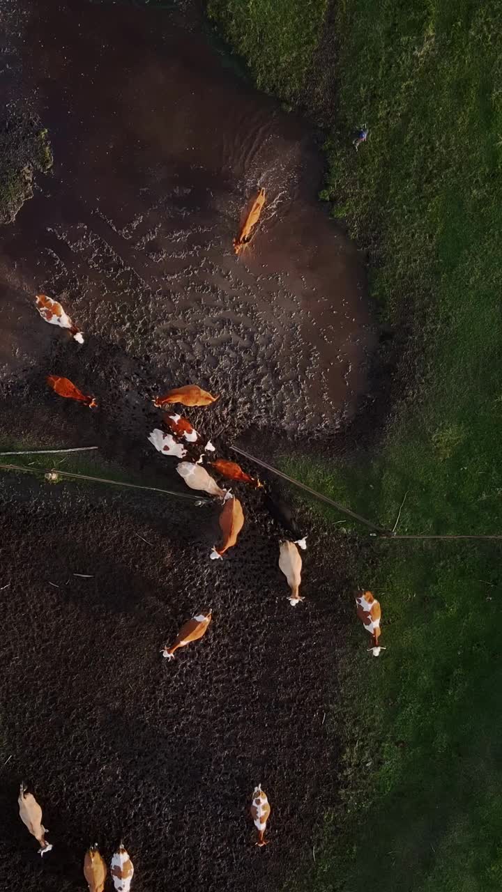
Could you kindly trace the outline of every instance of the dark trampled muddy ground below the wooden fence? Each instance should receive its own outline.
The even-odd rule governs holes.
[[[350,542],[302,516],[305,603],[291,608],[257,493],[217,565],[213,507],[173,514],[161,497],[10,478],[1,498],[4,888],[79,888],[88,843],[110,855],[121,834],[139,892],[281,888],[336,801],[333,629],[352,618]],[[167,663],[164,640],[205,607],[205,639]],[[43,861],[16,814],[21,778],[44,805]],[[263,850],[247,814],[260,781]]]

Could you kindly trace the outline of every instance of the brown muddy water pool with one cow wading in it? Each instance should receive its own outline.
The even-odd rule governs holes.
[[[31,304],[43,290],[89,336],[86,383],[112,381],[123,412],[148,385],[193,380],[231,395],[239,431],[338,428],[364,389],[372,332],[356,250],[315,200],[322,161],[305,124],[172,12],[25,10],[22,86],[55,165],[2,233],[4,382],[55,360],[64,372],[65,335]],[[262,186],[238,259],[232,238]]]

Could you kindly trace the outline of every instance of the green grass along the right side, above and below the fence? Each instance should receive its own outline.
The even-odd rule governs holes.
[[[314,6],[318,22],[325,5]],[[282,47],[301,19],[291,10],[280,25],[272,4],[211,4],[223,7],[261,86],[301,101],[309,63],[336,66],[322,195],[369,251],[381,318],[406,331],[401,398],[378,448],[289,470],[391,526],[407,493],[400,533],[499,533],[499,4],[345,0],[338,58],[310,45],[288,88]],[[247,50],[260,28],[266,47],[253,39]],[[364,122],[370,138],[356,153]],[[361,581],[381,597],[389,650],[369,664],[361,644],[344,657],[332,722],[346,743],[345,807],[327,816],[306,888],[499,888],[498,546],[376,541],[373,551]]]

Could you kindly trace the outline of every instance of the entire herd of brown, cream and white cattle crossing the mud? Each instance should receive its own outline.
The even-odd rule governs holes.
[[[238,246],[243,247],[247,244],[250,230],[259,217],[263,203],[264,191],[262,190],[255,201],[252,211],[248,215],[238,240],[236,240],[234,245],[236,251],[238,251]],[[40,316],[46,322],[68,329],[78,343],[84,343],[82,332],[77,326],[73,325],[71,318],[63,310],[61,303],[54,301],[45,294],[38,294],[36,304]],[[83,402],[89,409],[96,408],[96,399],[79,391],[79,388],[72,384],[68,378],[50,375],[47,376],[46,381],[54,392],[60,396]],[[154,404],[158,409],[167,409],[167,407],[173,404],[188,407],[209,406],[217,399],[219,399],[218,396],[213,396],[211,393],[202,390],[197,384],[186,384],[170,390],[162,397],[155,398]],[[244,511],[240,501],[232,495],[230,489],[227,490],[220,487],[206,467],[203,467],[203,462],[223,479],[247,483],[256,489],[264,488],[263,483],[248,475],[238,464],[226,458],[209,461],[206,457],[207,453],[215,451],[213,444],[209,441],[205,443],[203,448],[200,445],[197,446],[197,444],[203,441],[188,418],[182,417],[177,413],[169,414],[169,411],[166,411],[164,412],[162,423],[166,430],[155,428],[148,436],[149,442],[163,455],[181,459],[177,464],[176,470],[190,489],[203,491],[213,497],[214,500],[219,500],[222,504],[219,518],[222,541],[213,547],[209,555],[209,558],[212,560],[222,559],[225,552],[235,546],[238,540],[238,534],[244,525]],[[197,453],[198,458],[196,458]],[[186,458],[188,460],[182,460]],[[288,581],[290,589],[289,603],[292,607],[296,607],[300,601],[303,601],[303,597],[299,593],[302,558],[298,549],[306,549],[306,537],[299,534],[292,512],[289,506],[282,500],[275,498],[271,492],[264,492],[264,504],[274,519],[279,522],[280,526],[291,534],[291,539],[280,541],[279,566]],[[293,539],[293,536],[297,538]],[[356,611],[359,619],[364,624],[364,628],[372,636],[372,647],[368,648],[368,650],[373,657],[378,657],[381,650],[385,649],[381,648],[379,644],[381,608],[379,602],[373,598],[371,591],[361,591],[356,595]],[[178,648],[186,647],[190,642],[201,639],[205,635],[211,619],[211,613],[196,613],[181,627],[172,645],[168,646],[166,644],[163,647],[163,657],[172,660]],[[42,825],[42,810],[35,797],[28,792],[24,784],[21,784],[19,808],[21,820],[26,824],[29,832],[38,840],[40,846],[38,849],[39,854],[45,855],[52,849],[52,846],[46,842],[47,831]],[[265,846],[264,832],[271,812],[271,806],[261,785],[258,785],[253,792],[250,811],[257,830],[256,845],[259,847]],[[111,862],[111,875],[117,892],[129,892],[133,871],[134,868],[130,857],[121,844],[114,853]],[[105,888],[106,864],[103,857],[99,854],[97,846],[90,847],[85,855],[84,875],[88,881],[90,892],[103,892]]]

